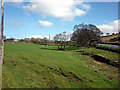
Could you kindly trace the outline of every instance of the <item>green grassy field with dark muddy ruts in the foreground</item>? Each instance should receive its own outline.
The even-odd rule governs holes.
[[[73,48],[73,47],[67,47]],[[74,49],[74,48],[73,48]],[[110,60],[117,53],[95,48],[59,51],[56,46],[5,43],[3,88],[118,88],[118,68],[76,51],[88,50]]]

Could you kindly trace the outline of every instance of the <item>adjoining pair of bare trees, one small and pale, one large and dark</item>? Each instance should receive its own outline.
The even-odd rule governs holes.
[[[67,35],[66,32],[56,34],[54,37],[54,41],[58,46],[58,49],[65,50],[66,45],[74,45],[74,46],[96,46],[98,42],[100,42],[100,36],[103,32],[92,24],[79,24],[75,25],[73,28],[73,33],[71,35]],[[70,41],[68,42],[68,38],[70,37]],[[62,48],[62,46],[64,48]]]

